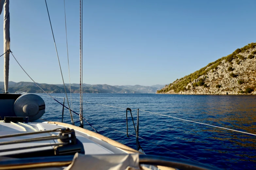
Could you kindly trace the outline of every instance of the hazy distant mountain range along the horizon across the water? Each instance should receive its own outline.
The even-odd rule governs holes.
[[[64,93],[63,84],[45,84],[38,83],[38,85],[48,93]],[[66,91],[70,92],[69,84],[65,84]],[[141,85],[124,85],[124,86],[111,86],[107,84],[83,84],[84,93],[155,93],[157,90],[160,90],[165,85],[153,85],[153,86],[141,86]],[[0,81],[0,92],[4,92],[4,82]],[[43,91],[37,87],[33,82],[13,82],[9,81],[8,92],[30,92],[30,93],[42,93]],[[79,93],[79,84],[71,84],[71,92]]]

